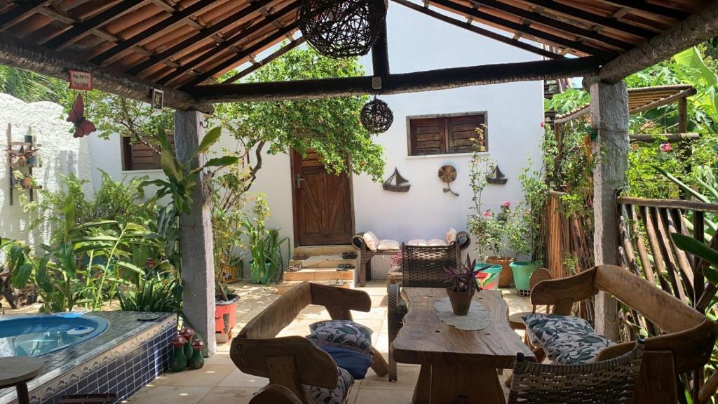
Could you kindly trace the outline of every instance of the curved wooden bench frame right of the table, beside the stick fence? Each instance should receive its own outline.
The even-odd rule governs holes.
[[[574,302],[590,298],[599,290],[614,295],[664,333],[646,339],[633,402],[676,404],[676,377],[707,364],[716,340],[716,324],[656,285],[614,265],[599,265],[572,277],[541,281],[531,290],[531,303],[554,306],[553,313],[568,316]],[[633,346],[633,342],[609,346],[596,360],[618,357]]]

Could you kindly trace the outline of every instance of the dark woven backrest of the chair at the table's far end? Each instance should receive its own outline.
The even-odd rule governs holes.
[[[413,246],[401,244],[401,285],[404,288],[444,288],[444,268],[457,267],[459,244]]]

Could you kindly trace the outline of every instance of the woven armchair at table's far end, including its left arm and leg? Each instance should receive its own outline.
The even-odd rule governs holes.
[[[456,267],[461,262],[461,245],[452,242],[447,246],[411,246],[401,244],[401,284],[388,285],[387,326],[389,339],[389,381],[396,382],[396,361],[392,342],[403,325],[406,305],[401,301],[401,287],[444,288],[445,267]]]

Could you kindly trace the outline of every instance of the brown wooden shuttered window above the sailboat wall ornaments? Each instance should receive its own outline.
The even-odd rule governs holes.
[[[409,155],[470,153],[477,138],[475,129],[486,124],[486,114],[452,114],[409,117]],[[484,146],[488,151],[487,130]]]

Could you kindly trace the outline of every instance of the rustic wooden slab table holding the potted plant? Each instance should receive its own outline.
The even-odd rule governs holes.
[[[396,362],[421,364],[414,404],[505,403],[497,369],[513,368],[518,352],[533,354],[508,323],[508,306],[498,290],[474,296],[489,312],[491,324],[479,331],[462,331],[439,320],[434,303],[446,290],[404,288],[409,306],[404,326],[394,339]]]

